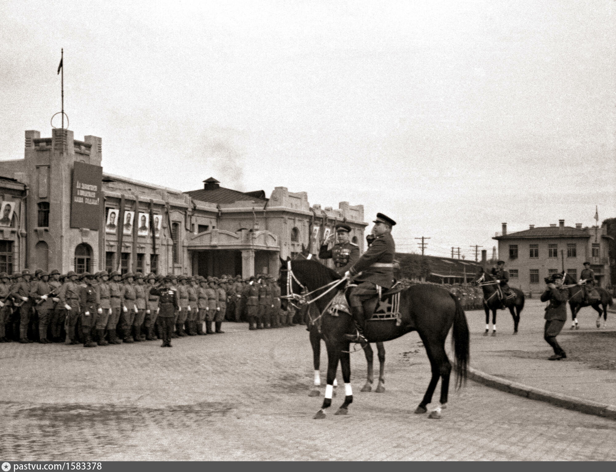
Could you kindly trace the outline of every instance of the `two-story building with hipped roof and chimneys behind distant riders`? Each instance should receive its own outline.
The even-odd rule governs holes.
[[[505,261],[509,271],[509,285],[523,291],[542,290],[543,278],[563,269],[578,280],[585,261],[597,275],[599,285],[610,282],[610,265],[605,227],[565,226],[564,219],[559,224],[547,227],[507,232],[503,223],[502,232],[493,239],[498,241],[499,258]]]

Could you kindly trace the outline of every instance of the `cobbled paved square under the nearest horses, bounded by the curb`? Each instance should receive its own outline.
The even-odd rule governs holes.
[[[0,344],[0,462],[616,460],[616,422],[472,382],[443,419],[413,414],[429,378],[415,333],[387,343],[385,393],[359,392],[356,353],[350,414],[333,415],[340,396],[314,420],[304,328],[224,328],[172,349]]]

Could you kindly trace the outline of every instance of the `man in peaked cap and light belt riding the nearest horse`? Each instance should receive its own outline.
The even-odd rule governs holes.
[[[354,342],[366,341],[363,336],[365,316],[362,302],[379,293],[378,286],[391,288],[394,285],[395,243],[391,235],[395,221],[383,213],[377,213],[372,230],[374,241],[368,250],[347,270],[345,277],[358,283],[349,294],[351,312],[356,332],[345,337]]]

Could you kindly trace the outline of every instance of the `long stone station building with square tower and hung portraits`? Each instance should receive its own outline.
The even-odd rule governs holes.
[[[75,162],[101,166],[101,138],[78,141],[61,128],[49,138],[26,131],[25,138],[24,159],[0,161],[0,210],[12,210],[5,226],[0,220],[0,265],[4,260],[7,271],[276,274],[280,258],[302,247],[317,254],[326,232],[342,221],[363,250],[362,205],[321,208],[309,205],[306,192],[275,187],[267,198],[264,191],[225,189],[213,178],[203,190],[182,192],[103,171],[102,202],[94,207],[99,229],[71,227]]]

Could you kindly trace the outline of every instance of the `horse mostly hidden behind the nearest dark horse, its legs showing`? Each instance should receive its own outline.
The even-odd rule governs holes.
[[[302,251],[294,258],[296,261],[302,261],[309,259],[310,253],[306,251],[304,245],[302,245]],[[280,259],[280,263],[282,267],[286,266],[286,261],[284,259]],[[310,346],[312,347],[312,364],[314,365],[314,388],[310,390],[308,396],[319,396],[321,395],[318,387],[321,385],[321,339],[323,339],[321,332],[319,331],[319,324],[313,322],[313,320],[318,319],[317,307],[315,304],[302,305],[299,309],[300,317],[302,321],[305,321],[307,324],[309,337],[310,337]],[[368,374],[366,377],[366,383],[363,385],[361,391],[372,391],[372,383],[375,380],[374,376],[374,357],[375,353],[372,350],[372,347],[369,343],[362,343],[363,352],[366,356],[366,363],[368,364]],[[383,393],[385,391],[385,347],[382,342],[376,343],[376,350],[378,351],[379,358],[379,383],[376,386],[376,393]],[[336,381],[334,380],[334,387],[336,387]]]

